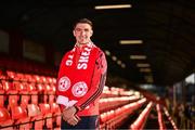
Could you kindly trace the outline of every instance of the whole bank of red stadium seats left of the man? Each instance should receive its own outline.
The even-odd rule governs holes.
[[[20,64],[15,65],[9,61],[4,63],[12,64],[15,69],[17,69],[16,66],[20,67]],[[23,66],[22,69],[24,68]],[[58,105],[54,103],[56,79],[26,73],[38,74],[43,69],[22,72],[25,73],[0,69],[0,129],[60,128],[61,112]],[[50,73],[46,74],[50,75]]]

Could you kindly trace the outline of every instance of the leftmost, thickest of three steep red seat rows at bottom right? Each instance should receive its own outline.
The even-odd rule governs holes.
[[[152,107],[153,107],[153,102],[150,102],[147,106],[143,109],[143,112],[140,114],[140,116],[136,118],[136,120],[130,126],[131,130],[143,129]]]

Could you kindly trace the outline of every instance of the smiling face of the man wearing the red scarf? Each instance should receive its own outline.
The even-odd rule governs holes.
[[[89,24],[78,23],[74,29],[74,36],[80,44],[89,43],[92,35],[93,30]]]

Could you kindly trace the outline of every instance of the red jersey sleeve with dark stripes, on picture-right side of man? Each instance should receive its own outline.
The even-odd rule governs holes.
[[[95,61],[91,88],[88,93],[75,104],[78,110],[84,109],[89,104],[94,102],[94,100],[101,95],[106,80],[106,73],[107,62],[105,54],[101,51]]]

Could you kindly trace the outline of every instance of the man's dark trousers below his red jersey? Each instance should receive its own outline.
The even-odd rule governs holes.
[[[76,126],[70,126],[62,118],[61,129],[67,130],[67,129],[90,129],[95,130],[99,128],[99,116],[81,116],[80,121]]]

